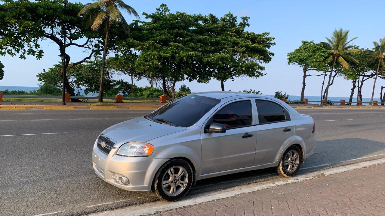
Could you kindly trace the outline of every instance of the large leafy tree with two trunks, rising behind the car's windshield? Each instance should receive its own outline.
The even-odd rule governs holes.
[[[187,13],[170,13],[167,5],[161,4],[154,13],[143,13],[149,21],[132,23],[131,37],[120,47],[134,48],[140,52],[136,62],[136,72],[152,80],[158,78],[167,97],[175,97],[177,81],[194,80],[203,73],[199,67],[201,47],[197,42],[198,16]],[[123,51],[126,53],[127,51]],[[130,51],[129,51],[130,52]],[[167,82],[171,87],[167,88]],[[171,90],[171,95],[169,94]]]

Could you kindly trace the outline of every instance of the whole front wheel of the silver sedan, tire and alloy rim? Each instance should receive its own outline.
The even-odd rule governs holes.
[[[192,168],[187,161],[172,159],[156,173],[154,188],[161,199],[177,201],[186,195],[193,181]]]

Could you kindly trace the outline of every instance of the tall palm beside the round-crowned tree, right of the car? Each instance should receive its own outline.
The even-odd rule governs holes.
[[[331,35],[331,38],[325,37],[328,42],[321,42],[325,46],[326,50],[328,50],[330,53],[330,57],[325,60],[326,63],[330,63],[333,61],[333,65],[331,66],[331,71],[329,75],[328,85],[326,86],[325,90],[325,104],[328,103],[327,101],[331,75],[333,74],[336,63],[339,63],[345,69],[349,69],[349,65],[345,61],[345,59],[349,59],[358,63],[355,58],[347,55],[348,53],[360,51],[358,49],[352,49],[351,46],[348,45],[348,43],[356,39],[353,38],[352,40],[348,41],[348,33],[349,30],[344,31],[342,30],[342,28],[340,28],[340,30],[334,30],[333,34]]]

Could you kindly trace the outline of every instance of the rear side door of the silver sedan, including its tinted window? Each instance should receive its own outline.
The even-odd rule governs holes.
[[[279,103],[268,99],[255,103],[258,123],[254,166],[278,160],[282,146],[293,140],[295,131],[290,113]]]

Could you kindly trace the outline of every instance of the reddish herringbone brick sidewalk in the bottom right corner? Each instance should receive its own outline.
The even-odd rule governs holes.
[[[157,215],[385,216],[385,164],[241,194]]]

